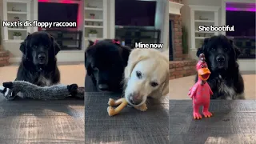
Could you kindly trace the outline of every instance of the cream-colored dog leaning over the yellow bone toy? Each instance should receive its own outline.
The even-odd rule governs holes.
[[[169,92],[169,59],[158,50],[134,49],[125,69],[125,98],[141,106],[148,97],[161,98]]]

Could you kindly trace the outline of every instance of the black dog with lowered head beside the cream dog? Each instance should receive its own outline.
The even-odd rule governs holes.
[[[122,78],[125,67],[127,66],[130,48],[121,46],[117,40],[105,39],[98,42],[90,42],[85,53],[86,83],[95,91],[122,92]]]

